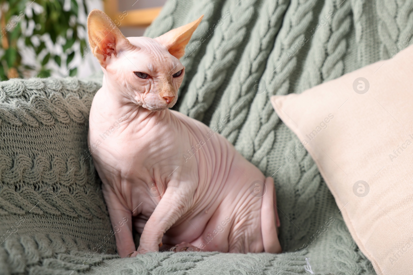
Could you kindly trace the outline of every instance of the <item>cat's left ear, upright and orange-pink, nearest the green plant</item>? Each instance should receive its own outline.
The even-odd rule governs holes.
[[[90,49],[102,67],[106,67],[112,54],[133,48],[112,19],[99,9],[89,13],[88,36]]]

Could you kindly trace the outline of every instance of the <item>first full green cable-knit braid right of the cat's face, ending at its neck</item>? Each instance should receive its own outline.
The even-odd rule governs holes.
[[[237,59],[247,26],[254,20],[256,1],[229,0],[223,6],[222,14],[229,14],[228,19],[222,26],[217,26],[198,71],[189,84],[188,89],[196,89],[197,93],[185,94],[179,109],[185,115],[202,119],[203,112],[211,105],[216,90],[225,80],[225,71]]]

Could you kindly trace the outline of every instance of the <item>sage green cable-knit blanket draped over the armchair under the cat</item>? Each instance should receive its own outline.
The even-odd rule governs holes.
[[[220,133],[274,178],[282,254],[120,259],[86,141],[101,78],[0,82],[0,274],[375,274],[269,98],[393,56],[410,42],[412,10],[412,0],[169,0],[147,29],[205,15],[174,109],[211,127],[231,114]]]

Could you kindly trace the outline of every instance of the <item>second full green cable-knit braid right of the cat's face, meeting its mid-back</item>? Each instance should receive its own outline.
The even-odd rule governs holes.
[[[227,114],[231,115],[230,121],[221,131],[221,134],[231,143],[235,143],[237,139],[239,128],[247,117],[254,95],[261,94],[266,89],[266,83],[260,83],[259,80],[275,35],[280,28],[282,16],[285,14],[283,5],[286,3],[287,1],[263,3],[239,66],[235,68],[233,77],[211,119],[210,125],[213,127],[218,125]]]

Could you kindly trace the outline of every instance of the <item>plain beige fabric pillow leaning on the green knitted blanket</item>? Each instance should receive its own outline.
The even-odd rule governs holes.
[[[377,274],[413,274],[413,46],[271,103]]]

